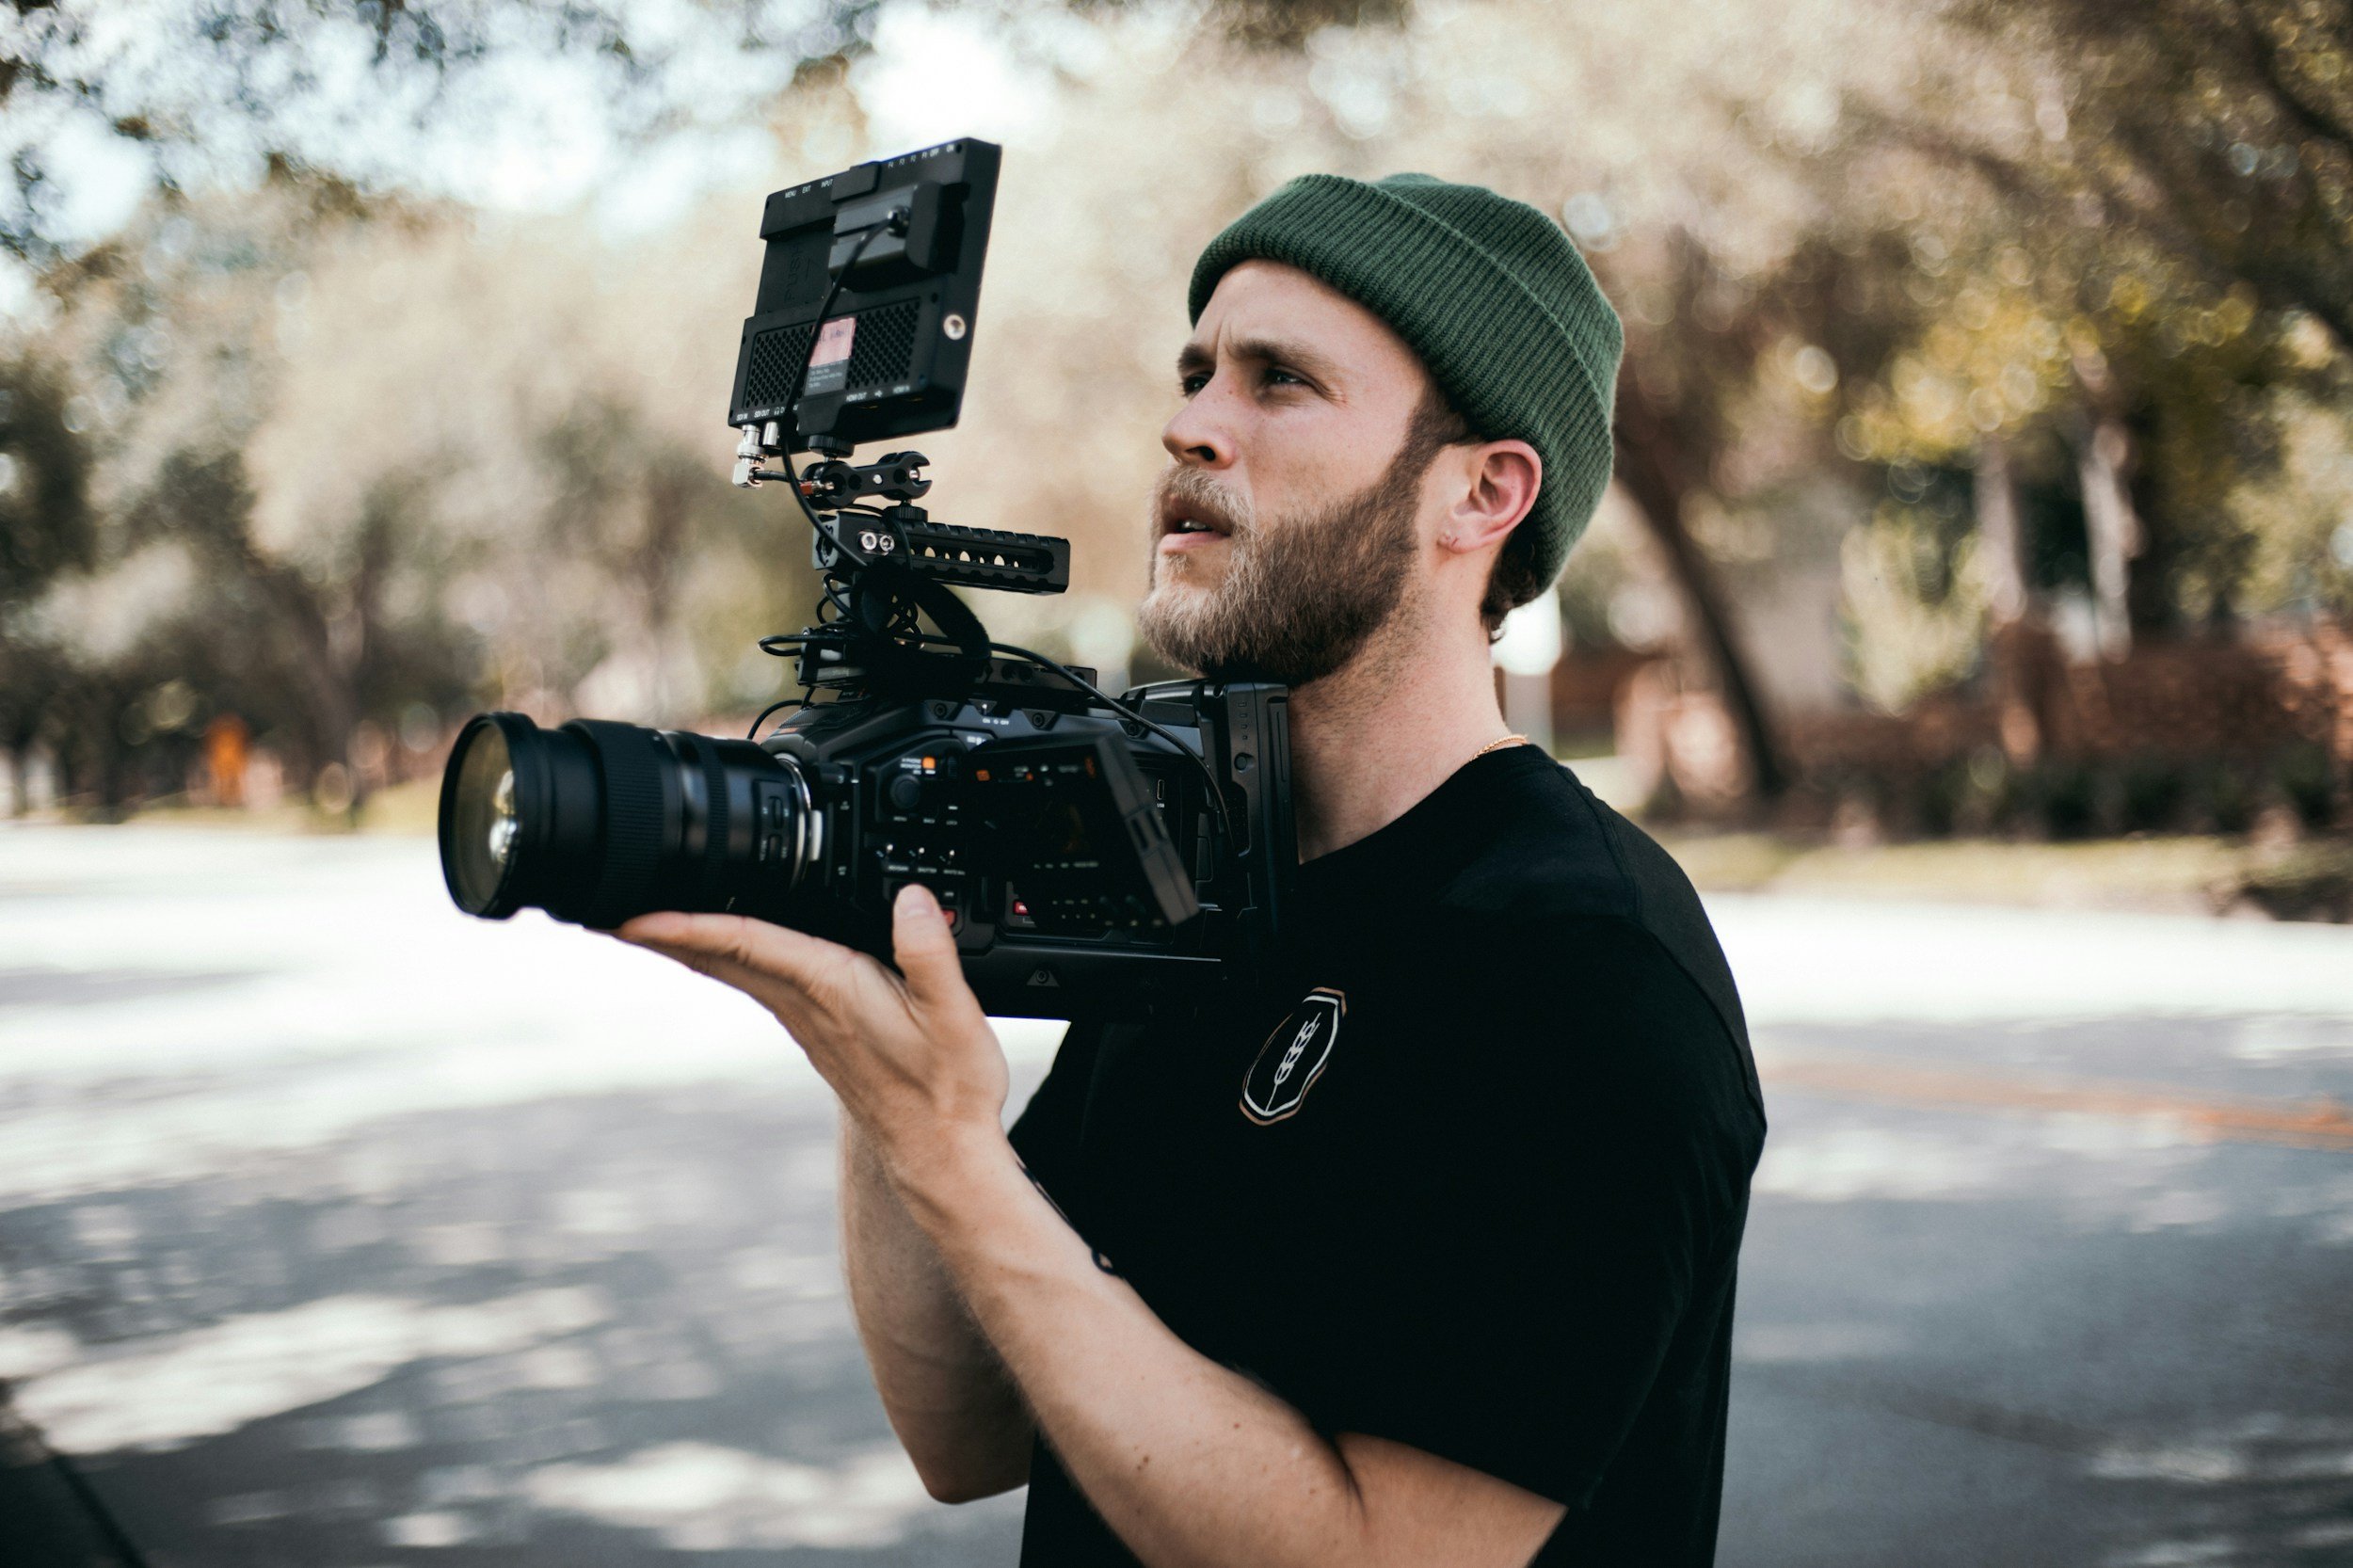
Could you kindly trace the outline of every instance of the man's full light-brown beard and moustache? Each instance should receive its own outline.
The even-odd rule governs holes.
[[[1421,476],[1435,452],[1407,443],[1374,483],[1308,513],[1261,523],[1249,501],[1200,469],[1174,466],[1153,487],[1191,501],[1226,530],[1226,574],[1181,586],[1186,556],[1160,556],[1136,631],[1169,664],[1217,680],[1322,680],[1362,652],[1407,598],[1419,549]]]

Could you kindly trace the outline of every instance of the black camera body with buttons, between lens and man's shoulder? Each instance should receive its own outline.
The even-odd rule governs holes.
[[[1139,1015],[1254,968],[1297,862],[1285,690],[1188,680],[1122,699],[1209,760],[1238,808],[1224,843],[1169,742],[1028,666],[993,673],[1009,678],[965,697],[809,704],[762,742],[812,777],[824,822],[769,918],[887,951],[892,899],[922,883],[1000,1017]]]

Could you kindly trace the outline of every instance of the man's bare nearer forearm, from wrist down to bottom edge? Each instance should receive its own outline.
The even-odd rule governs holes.
[[[974,1144],[906,1180],[908,1210],[1120,1540],[1153,1568],[1384,1561],[1341,1450],[1101,1271],[1012,1149]]]

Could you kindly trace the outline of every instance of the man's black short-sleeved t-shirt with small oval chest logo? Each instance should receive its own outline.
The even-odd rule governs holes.
[[[1320,1431],[1567,1504],[1539,1563],[1715,1556],[1765,1140],[1673,859],[1534,746],[1306,862],[1278,972],[1071,1029],[1014,1147],[1186,1344]],[[1021,1563],[1132,1563],[1031,1460]]]

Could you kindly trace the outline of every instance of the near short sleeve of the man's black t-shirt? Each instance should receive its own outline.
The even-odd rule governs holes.
[[[1332,1236],[1332,1431],[1386,1436],[1584,1507],[1701,1300],[1727,1283],[1762,1125],[1746,1055],[1642,928],[1466,930],[1424,1043],[1384,1064]],[[1475,951],[1457,951],[1454,942]],[[1438,956],[1438,954],[1433,954]]]

